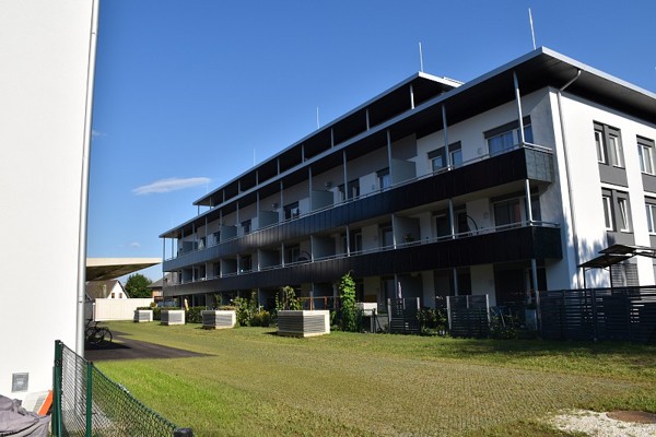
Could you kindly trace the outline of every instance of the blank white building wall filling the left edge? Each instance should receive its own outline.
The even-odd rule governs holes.
[[[0,252],[0,264],[12,274],[3,277],[0,306],[0,393],[10,398],[51,388],[55,340],[83,349],[77,344],[83,323],[77,320],[77,290],[84,285],[79,267],[86,257],[80,250],[86,223],[81,192],[95,7],[92,0],[0,3],[0,186],[11,187],[0,190],[0,223],[4,229],[43,229],[47,211],[48,228],[57,229],[47,233],[47,246],[43,232],[4,233],[11,250]],[[54,321],[48,329],[28,322],[28,303],[38,303],[28,306],[30,320]],[[28,374],[27,390],[12,392],[12,375],[22,373]]]

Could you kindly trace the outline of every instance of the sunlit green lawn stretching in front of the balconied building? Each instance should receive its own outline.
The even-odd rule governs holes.
[[[561,409],[656,412],[656,347],[112,322],[207,356],[99,362],[198,436],[565,436]]]

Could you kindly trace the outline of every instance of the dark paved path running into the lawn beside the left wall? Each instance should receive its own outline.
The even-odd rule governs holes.
[[[160,344],[147,343],[130,339],[129,334],[112,331],[113,342],[103,342],[98,345],[90,345],[84,351],[84,358],[90,362],[105,362],[116,359],[139,358],[185,358],[190,356],[206,356],[196,352],[181,349],[162,346]]]

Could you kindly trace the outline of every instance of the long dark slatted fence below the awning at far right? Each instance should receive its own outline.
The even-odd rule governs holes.
[[[656,344],[656,287],[539,293],[540,334],[547,340],[620,340]]]

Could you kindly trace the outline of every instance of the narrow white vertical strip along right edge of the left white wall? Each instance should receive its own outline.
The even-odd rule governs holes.
[[[93,109],[93,84],[95,78],[96,42],[98,35],[98,3],[93,1],[91,9],[91,32],[89,35],[89,63],[86,70],[86,103],[84,105],[84,133],[82,139],[82,169],[80,174],[80,228],[78,229],[78,308],[75,329],[75,353],[84,356],[84,296],[86,291],[86,223],[89,208],[89,164],[91,153],[91,127]]]

